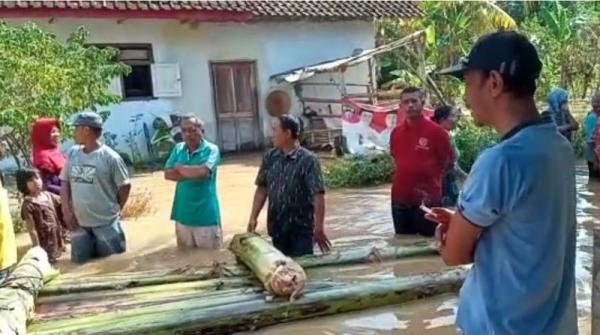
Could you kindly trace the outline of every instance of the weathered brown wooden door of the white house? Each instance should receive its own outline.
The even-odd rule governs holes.
[[[211,63],[211,75],[221,150],[258,148],[260,127],[255,62],[214,62]]]

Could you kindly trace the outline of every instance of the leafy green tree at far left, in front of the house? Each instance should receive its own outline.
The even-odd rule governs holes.
[[[115,61],[115,49],[89,46],[88,35],[80,27],[63,43],[33,23],[0,23],[0,124],[13,129],[13,152],[28,157],[29,127],[38,117],[66,121],[118,102],[108,93],[110,80],[130,69]]]

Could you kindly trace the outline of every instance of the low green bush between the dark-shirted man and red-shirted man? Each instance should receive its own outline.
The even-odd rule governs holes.
[[[389,153],[347,156],[326,164],[325,185],[330,188],[362,187],[389,183],[394,164]]]

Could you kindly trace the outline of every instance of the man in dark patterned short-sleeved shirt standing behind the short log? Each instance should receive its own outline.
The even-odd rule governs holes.
[[[254,232],[269,199],[267,229],[273,245],[287,256],[313,253],[313,243],[328,252],[325,235],[325,188],[319,160],[300,146],[300,121],[291,115],[273,120],[274,149],[267,151],[256,177],[248,231]]]

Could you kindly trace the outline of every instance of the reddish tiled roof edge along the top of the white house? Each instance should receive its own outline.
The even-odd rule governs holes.
[[[24,17],[28,11],[46,11],[48,16],[61,13],[58,10],[81,10],[85,16],[94,11],[102,11],[115,16],[139,12],[187,13],[211,12],[251,15],[252,20],[352,20],[382,17],[410,18],[419,16],[421,11],[417,1],[394,0],[219,0],[219,1],[3,1],[0,0],[0,14],[18,11]],[[108,13],[107,13],[108,12]],[[41,16],[37,13],[35,16]],[[164,13],[161,13],[164,14]],[[13,13],[14,16],[14,13]],[[59,16],[59,15],[58,15]],[[177,16],[177,15],[175,15]],[[151,15],[149,17],[152,17]],[[161,15],[163,17],[163,15]]]

